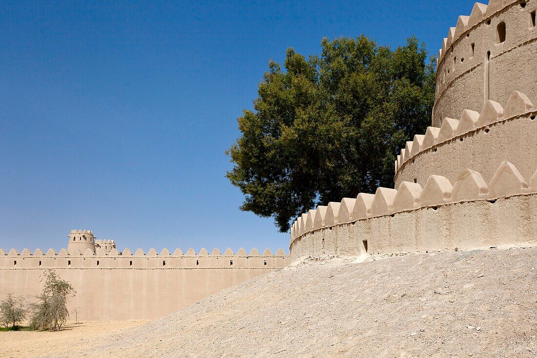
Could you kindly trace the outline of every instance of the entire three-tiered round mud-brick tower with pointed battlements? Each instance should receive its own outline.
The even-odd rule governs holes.
[[[291,259],[473,249],[537,240],[535,0],[476,3],[440,50],[432,126],[395,161],[395,188],[303,213]]]

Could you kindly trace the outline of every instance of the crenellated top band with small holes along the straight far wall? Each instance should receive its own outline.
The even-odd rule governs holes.
[[[236,254],[230,248],[223,254],[217,248],[211,254],[205,248],[199,253],[190,248],[186,254],[179,248],[173,253],[166,248],[160,253],[154,248],[147,253],[141,248],[134,253],[128,248],[118,252],[115,247],[109,251],[99,248],[96,253],[91,249],[86,249],[83,253],[78,249],[71,252],[61,249],[59,253],[54,249],[48,249],[46,253],[41,249],[36,249],[33,253],[28,249],[20,253],[16,249],[10,249],[8,253],[0,249],[0,269],[275,269],[285,267],[287,261],[288,256],[281,248],[275,254],[268,248],[263,254],[256,248],[249,254],[243,248]]]

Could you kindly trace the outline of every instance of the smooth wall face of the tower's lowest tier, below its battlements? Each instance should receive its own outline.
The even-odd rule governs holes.
[[[291,260],[488,248],[531,240],[537,240],[537,194],[425,207],[321,228],[292,242]]]

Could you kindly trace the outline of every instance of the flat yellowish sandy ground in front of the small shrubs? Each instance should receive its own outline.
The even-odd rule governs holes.
[[[37,358],[66,354],[73,347],[90,347],[110,333],[119,333],[126,328],[140,326],[147,320],[125,321],[84,321],[81,324],[68,323],[62,331],[50,332],[0,332],[0,357]]]

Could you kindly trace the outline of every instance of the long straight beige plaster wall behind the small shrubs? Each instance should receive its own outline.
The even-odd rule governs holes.
[[[8,292],[36,295],[42,289],[43,270],[54,268],[77,291],[68,306],[71,311],[79,307],[79,320],[163,317],[222,289],[285,267],[289,261],[281,249],[276,255],[256,255],[256,250],[253,255],[151,257],[140,252],[138,256],[68,255],[64,250],[47,256],[39,252],[0,252],[0,297]]]

